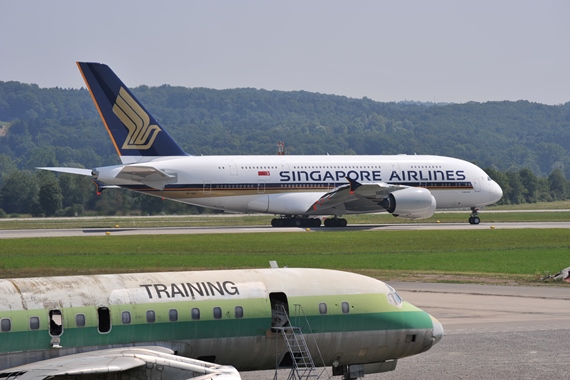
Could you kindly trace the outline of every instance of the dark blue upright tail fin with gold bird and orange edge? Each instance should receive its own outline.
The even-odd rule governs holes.
[[[188,155],[109,66],[90,62],[77,66],[123,164]]]

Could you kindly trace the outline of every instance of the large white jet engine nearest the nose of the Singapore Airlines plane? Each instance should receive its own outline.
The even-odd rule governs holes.
[[[390,193],[380,206],[394,216],[410,219],[430,218],[435,212],[435,198],[428,189],[408,187]]]

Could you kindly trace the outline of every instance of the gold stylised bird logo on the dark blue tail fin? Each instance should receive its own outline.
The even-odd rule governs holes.
[[[150,125],[148,114],[124,88],[113,106],[113,112],[129,130],[123,149],[145,150],[152,146],[156,135],[161,131],[158,125]]]

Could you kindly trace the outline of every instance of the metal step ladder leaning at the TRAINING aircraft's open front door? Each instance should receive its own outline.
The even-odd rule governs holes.
[[[283,308],[283,314],[287,315],[284,306],[279,306]],[[303,314],[301,316],[301,314]],[[295,305],[295,320],[299,321],[301,317],[305,319],[305,325],[308,326],[308,320],[301,305]],[[302,327],[293,326],[289,316],[287,315],[287,324],[283,327],[274,327],[276,331],[281,332],[281,336],[287,344],[287,350],[291,355],[292,368],[289,373],[287,380],[303,380],[303,379],[319,379],[320,374],[317,373],[317,368],[313,358],[311,357],[311,352],[305,341],[305,336],[303,335]],[[308,326],[309,333],[310,326]],[[316,343],[315,343],[316,344]],[[318,349],[318,348],[317,348]],[[319,352],[320,354],[320,352]],[[326,369],[325,369],[326,370]],[[275,379],[277,378],[277,372],[275,373]]]

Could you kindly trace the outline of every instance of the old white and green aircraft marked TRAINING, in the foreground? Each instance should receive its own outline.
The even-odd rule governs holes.
[[[294,367],[294,331],[350,379],[443,336],[384,282],[322,269],[16,278],[0,297],[0,379],[240,379]]]

